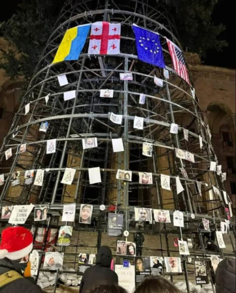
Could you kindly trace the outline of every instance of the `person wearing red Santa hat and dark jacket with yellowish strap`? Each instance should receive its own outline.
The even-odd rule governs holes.
[[[2,231],[0,244],[0,292],[42,293],[24,271],[33,249],[33,237],[23,227],[9,227]]]

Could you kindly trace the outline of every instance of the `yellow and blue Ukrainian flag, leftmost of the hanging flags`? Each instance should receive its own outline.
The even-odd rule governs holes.
[[[68,29],[64,34],[53,63],[65,60],[78,60],[84,48],[90,27],[91,24],[84,24]]]

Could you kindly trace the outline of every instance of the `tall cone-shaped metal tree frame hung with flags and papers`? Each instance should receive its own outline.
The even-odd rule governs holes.
[[[80,204],[94,205],[94,214],[99,215],[99,206],[116,205],[117,212],[124,213],[125,230],[135,231],[130,224],[133,207],[165,209],[172,205],[174,209],[184,211],[186,228],[163,224],[148,229],[151,234],[164,233],[167,249],[158,248],[161,254],[170,256],[168,233],[185,235],[199,233],[201,250],[193,250],[194,258],[206,258],[207,252],[201,228],[202,218],[211,220],[212,230],[220,229],[220,221],[226,218],[225,203],[222,196],[209,198],[209,190],[215,185],[225,190],[219,176],[209,171],[210,162],[216,160],[215,152],[207,131],[207,121],[200,110],[197,97],[193,97],[190,86],[172,69],[172,60],[164,37],[175,42],[180,48],[175,35],[175,26],[170,21],[164,1],[152,0],[84,0],[69,1],[65,4],[55,30],[51,34],[34,76],[21,100],[18,113],[13,119],[8,135],[0,149],[0,162],[4,170],[5,183],[0,195],[0,204],[27,204],[33,201],[37,205],[48,205],[51,215],[59,216],[63,204],[74,202],[77,209]],[[95,3],[96,2],[96,3]],[[154,8],[155,7],[155,8]],[[121,54],[88,55],[89,38],[78,61],[51,64],[56,50],[66,29],[95,21],[119,22],[121,30]],[[167,64],[170,79],[163,76],[161,68],[155,68],[138,60],[131,24],[136,23],[152,31],[158,32]],[[131,72],[133,81],[121,81],[119,74]],[[69,84],[60,87],[57,77],[65,74]],[[163,87],[153,83],[154,75],[164,80]],[[193,81],[192,81],[193,84]],[[101,89],[113,89],[114,98],[100,98]],[[64,101],[63,93],[76,90],[74,100]],[[141,93],[146,94],[145,105],[138,104]],[[46,104],[44,97],[50,94]],[[25,115],[25,105],[30,103],[30,112]],[[109,120],[110,112],[123,115],[123,124],[114,125]],[[143,130],[134,129],[135,116],[144,117]],[[39,132],[39,125],[48,122],[47,132]],[[170,133],[172,123],[178,124],[178,134]],[[183,128],[189,129],[189,141],[183,138]],[[203,148],[199,147],[199,135],[203,137]],[[98,148],[83,150],[82,139],[97,137]],[[114,155],[111,139],[123,138],[124,153]],[[46,154],[46,141],[57,140],[56,153]],[[153,144],[151,158],[142,155],[142,144]],[[4,162],[4,151],[9,147],[17,150],[21,144],[27,144],[27,154],[15,154]],[[175,148],[194,153],[195,163],[178,159]],[[79,158],[77,166],[69,164],[68,158]],[[159,164],[160,162],[167,164]],[[114,165],[115,164],[115,168]],[[77,178],[73,182],[74,193],[67,192],[61,184],[65,167],[77,169]],[[100,167],[102,183],[89,185],[88,168]],[[43,187],[34,185],[21,187],[19,196],[11,196],[10,178],[14,171],[20,170],[22,178],[25,170],[45,169]],[[115,179],[117,169],[131,170],[133,181],[124,183]],[[189,179],[183,178],[180,169],[186,169]],[[138,182],[139,171],[153,173],[153,185],[144,186]],[[172,197],[167,198],[160,186],[160,174],[171,175]],[[179,175],[184,192],[177,195],[175,176]],[[202,182],[203,197],[199,195],[196,181]],[[208,186],[205,185],[206,182]],[[166,208],[168,209],[168,208]],[[173,210],[172,209],[172,212]],[[172,214],[171,212],[171,214]],[[195,219],[191,218],[195,214]],[[104,214],[105,215],[105,214]],[[104,216],[103,215],[103,216]],[[99,223],[99,231],[104,230],[104,221]],[[2,224],[4,221],[2,220]],[[38,224],[37,224],[38,225]],[[74,224],[74,228],[84,228]],[[88,228],[89,230],[89,228]],[[231,222],[230,241],[235,253],[233,234],[235,227]],[[101,243],[101,235],[98,246]],[[65,250],[65,249],[63,249]],[[163,254],[164,253],[164,254]],[[231,255],[220,249],[221,257]],[[119,261],[119,260],[118,260]],[[182,257],[187,290],[190,292],[188,274],[193,268],[187,268],[187,259]],[[173,275],[171,274],[173,279]]]

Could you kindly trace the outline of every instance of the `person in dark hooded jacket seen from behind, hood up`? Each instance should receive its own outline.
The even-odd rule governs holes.
[[[80,293],[99,285],[118,285],[118,276],[110,270],[112,253],[109,247],[102,246],[96,255],[96,265],[88,268],[81,280]]]

